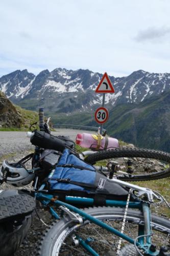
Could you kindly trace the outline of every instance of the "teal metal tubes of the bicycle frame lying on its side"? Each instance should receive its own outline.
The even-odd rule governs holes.
[[[119,232],[117,229],[109,226],[108,224],[102,222],[99,219],[96,219],[95,217],[92,217],[88,215],[86,212],[82,211],[81,209],[72,206],[74,205],[85,205],[85,206],[93,206],[94,200],[92,198],[79,198],[79,197],[69,197],[67,196],[65,198],[65,202],[56,200],[56,197],[54,195],[50,195],[47,193],[47,191],[43,191],[44,185],[42,185],[39,189],[39,192],[36,193],[36,199],[40,200],[41,203],[44,206],[49,206],[50,212],[52,216],[55,219],[60,219],[59,215],[57,212],[54,210],[54,208],[51,206],[53,203],[54,205],[58,207],[65,207],[67,210],[71,212],[75,212],[79,216],[83,218],[83,221],[88,220],[108,231],[111,233],[115,234],[116,236],[128,241],[131,244],[134,244],[138,249],[142,249],[143,252],[147,255],[159,255],[159,251],[151,251],[151,236],[152,236],[152,229],[151,229],[151,212],[150,212],[150,206],[149,203],[143,202],[139,199],[137,199],[134,202],[129,202],[129,208],[136,208],[140,209],[143,211],[143,217],[144,217],[144,225],[140,225],[139,230],[138,230],[138,237],[136,240],[130,238],[124,233]],[[47,194],[46,194],[47,193]],[[106,200],[106,206],[119,206],[119,207],[124,207],[126,206],[127,202],[126,201],[116,201],[116,200]],[[146,238],[146,242],[144,242],[144,238]],[[91,238],[88,238],[86,241],[84,241],[81,237],[77,236],[77,239],[79,240],[79,243],[88,251],[91,255],[99,255],[96,253],[92,247],[89,245],[89,241]]]

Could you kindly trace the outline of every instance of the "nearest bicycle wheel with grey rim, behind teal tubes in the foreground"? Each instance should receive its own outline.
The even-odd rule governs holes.
[[[87,214],[106,222],[110,226],[121,230],[124,219],[125,209],[116,207],[97,207],[89,208]],[[139,210],[129,209],[126,218],[125,231],[127,236],[135,239],[139,236],[139,229],[143,226],[143,215]],[[170,221],[152,216],[153,243],[159,249],[162,245],[167,245],[170,234]],[[38,245],[37,254],[41,256],[56,255],[91,255],[84,250],[77,239],[81,237],[84,241],[88,239],[89,245],[99,255],[115,255],[119,238],[114,234],[102,229],[99,226],[86,221],[80,225],[64,218],[57,223],[53,223],[50,229],[46,230]],[[129,256],[138,255],[136,249],[127,241],[122,242],[119,255]]]

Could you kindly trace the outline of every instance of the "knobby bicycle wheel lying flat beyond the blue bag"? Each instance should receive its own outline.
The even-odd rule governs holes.
[[[87,156],[85,161],[103,166],[116,162],[114,175],[124,181],[156,180],[170,176],[170,154],[147,148],[122,147],[100,151]],[[124,174],[118,174],[117,170]]]

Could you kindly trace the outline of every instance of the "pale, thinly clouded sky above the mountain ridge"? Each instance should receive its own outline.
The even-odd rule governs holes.
[[[2,0],[0,77],[89,69],[170,73],[169,0]]]

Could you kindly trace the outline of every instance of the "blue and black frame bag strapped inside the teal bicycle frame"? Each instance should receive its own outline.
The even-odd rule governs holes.
[[[47,179],[47,188],[64,200],[65,196],[94,198],[94,204],[104,205],[106,199],[127,200],[128,190],[113,183],[95,168],[64,150]],[[61,197],[61,198],[60,198]]]

